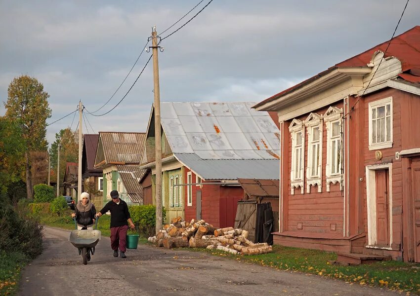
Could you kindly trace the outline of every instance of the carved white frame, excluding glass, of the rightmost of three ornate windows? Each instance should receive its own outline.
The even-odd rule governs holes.
[[[331,106],[328,108],[327,112],[325,112],[323,118],[325,121],[325,127],[327,129],[327,165],[325,166],[326,171],[326,184],[327,184],[327,192],[330,192],[330,185],[332,184],[340,184],[340,190],[343,189],[343,155],[341,153],[342,151],[342,145],[343,145],[343,134],[342,131],[342,113],[343,110],[341,108],[336,108]],[[339,130],[340,130],[340,160],[338,162],[338,173],[333,173],[331,171],[332,169],[332,148],[333,148],[333,139],[332,139],[332,126],[333,123],[338,122]]]

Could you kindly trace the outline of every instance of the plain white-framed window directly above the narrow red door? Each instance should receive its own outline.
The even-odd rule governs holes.
[[[392,147],[392,97],[369,103],[369,150]]]

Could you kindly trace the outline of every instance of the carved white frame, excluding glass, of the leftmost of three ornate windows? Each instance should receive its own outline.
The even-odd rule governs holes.
[[[300,187],[301,194],[304,193],[303,190],[303,179],[304,179],[304,168],[305,168],[305,125],[299,119],[293,119],[290,126],[290,137],[292,139],[292,167],[290,171],[290,181],[291,181],[291,194],[294,195],[294,189]],[[296,134],[300,133],[302,137],[302,148],[300,150],[300,155],[296,155]],[[300,157],[301,164],[296,177],[296,157]]]

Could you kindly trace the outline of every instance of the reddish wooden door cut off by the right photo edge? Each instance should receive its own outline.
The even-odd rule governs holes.
[[[412,162],[414,260],[420,262],[420,161]]]

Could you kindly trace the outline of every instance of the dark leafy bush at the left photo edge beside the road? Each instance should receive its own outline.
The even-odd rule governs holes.
[[[35,258],[42,252],[42,226],[33,220],[25,221],[12,206],[4,205],[0,208],[0,250]]]

